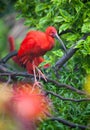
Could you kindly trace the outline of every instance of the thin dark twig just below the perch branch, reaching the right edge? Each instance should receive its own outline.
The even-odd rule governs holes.
[[[46,94],[51,94],[51,95],[58,97],[59,99],[64,100],[64,101],[73,101],[73,102],[90,101],[90,98],[82,98],[82,99],[64,98],[63,96],[60,96],[59,94],[56,94],[52,91],[46,91]]]

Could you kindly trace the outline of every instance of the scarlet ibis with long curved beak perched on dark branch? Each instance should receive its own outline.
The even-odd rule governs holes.
[[[47,27],[45,32],[29,31],[20,45],[17,56],[13,57],[13,60],[20,66],[25,67],[29,73],[34,73],[34,76],[36,75],[36,71],[41,76],[44,76],[38,69],[38,65],[44,61],[42,56],[54,47],[55,38],[59,40],[66,52],[66,47],[53,26]],[[9,43],[10,51],[14,50],[14,44],[12,44],[14,40],[11,37],[9,37]]]

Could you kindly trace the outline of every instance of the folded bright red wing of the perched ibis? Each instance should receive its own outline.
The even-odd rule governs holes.
[[[43,38],[45,37],[43,33],[39,31],[30,31],[26,35],[25,39],[21,43],[18,54],[19,55],[33,55],[40,56],[42,55],[42,45],[44,44]],[[45,38],[44,38],[45,39]]]

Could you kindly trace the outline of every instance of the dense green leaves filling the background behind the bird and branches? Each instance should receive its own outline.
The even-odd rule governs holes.
[[[44,31],[50,25],[56,27],[67,50],[84,34],[90,33],[89,0],[17,0],[15,9],[18,11],[17,18],[25,18],[25,25],[29,29]],[[4,32],[4,29],[2,30]],[[79,48],[78,51],[57,73],[54,68],[55,63],[64,54],[57,42],[55,48],[44,56],[45,62],[50,63],[51,67],[42,71],[60,83],[83,90],[85,77],[90,74],[90,36],[86,40],[80,40],[77,48]],[[59,88],[52,83],[44,83],[44,89],[66,98],[85,97],[63,87]],[[63,101],[51,95],[50,99],[54,107],[53,115],[77,124],[88,125],[90,123],[89,102]],[[38,130],[59,129],[69,130],[70,128],[57,121],[48,120],[42,122],[38,128]],[[73,128],[73,130],[79,130],[79,128]]]

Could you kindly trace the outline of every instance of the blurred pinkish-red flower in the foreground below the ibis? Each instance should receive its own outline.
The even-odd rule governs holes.
[[[50,113],[50,101],[41,88],[19,82],[13,85],[13,94],[8,108],[16,118],[38,120]]]

